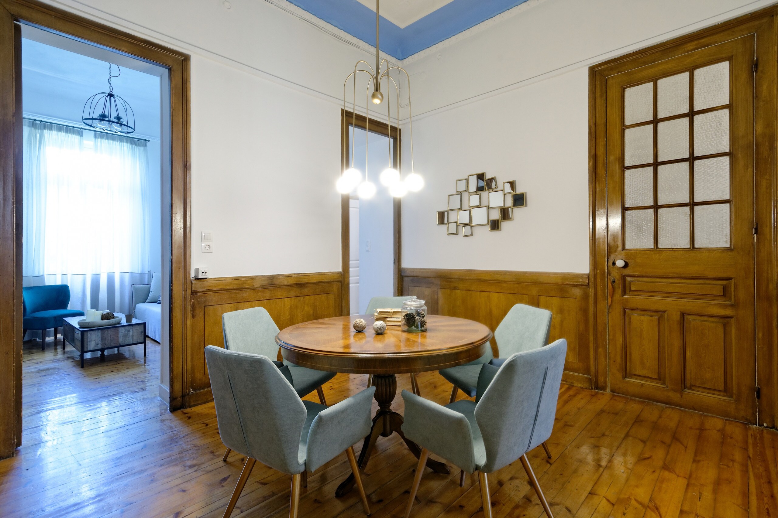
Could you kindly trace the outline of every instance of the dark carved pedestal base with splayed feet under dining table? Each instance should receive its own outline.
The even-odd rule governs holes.
[[[373,385],[376,387],[375,397],[378,402],[378,411],[373,418],[373,428],[370,429],[370,435],[365,437],[365,442],[362,445],[362,451],[359,452],[359,460],[357,465],[360,470],[363,470],[367,466],[367,461],[370,460],[370,453],[373,453],[373,448],[376,446],[378,436],[388,437],[392,433],[397,433],[408,445],[408,450],[411,450],[416,458],[419,458],[422,450],[412,440],[406,439],[402,433],[402,416],[397,412],[392,411],[391,402],[394,401],[394,395],[397,394],[397,377],[394,374],[374,375]],[[437,460],[427,459],[427,467],[436,473],[449,474],[451,471],[446,464],[438,462]],[[349,474],[349,478],[338,486],[335,490],[335,496],[343,496],[352,490],[354,487],[354,475]]]

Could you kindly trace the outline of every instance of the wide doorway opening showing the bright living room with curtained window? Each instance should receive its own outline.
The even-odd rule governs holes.
[[[23,414],[66,409],[69,424],[110,411],[110,401],[160,397],[156,404],[166,406],[169,69],[20,28]],[[128,103],[121,118],[110,118],[132,124],[130,134],[82,122],[90,96],[107,92]],[[40,439],[25,429],[26,440]]]

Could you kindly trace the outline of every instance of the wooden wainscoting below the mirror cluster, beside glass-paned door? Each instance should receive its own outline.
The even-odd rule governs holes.
[[[591,387],[587,274],[403,268],[402,292],[426,300],[431,314],[468,318],[492,331],[514,304],[553,313],[549,340],[567,340],[565,381]],[[492,352],[499,355],[492,340]]]

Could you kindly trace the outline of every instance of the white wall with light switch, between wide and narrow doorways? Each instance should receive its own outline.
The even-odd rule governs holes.
[[[193,268],[340,270],[343,79],[368,54],[261,0],[49,2],[191,54]]]

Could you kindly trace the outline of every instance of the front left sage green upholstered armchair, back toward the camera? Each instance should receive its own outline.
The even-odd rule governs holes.
[[[219,436],[228,448],[247,457],[224,518],[235,509],[257,460],[292,475],[289,518],[297,518],[302,474],[317,470],[344,451],[365,513],[370,515],[353,445],[370,433],[375,387],[328,407],[301,400],[286,376],[265,355],[209,345],[205,362]]]

